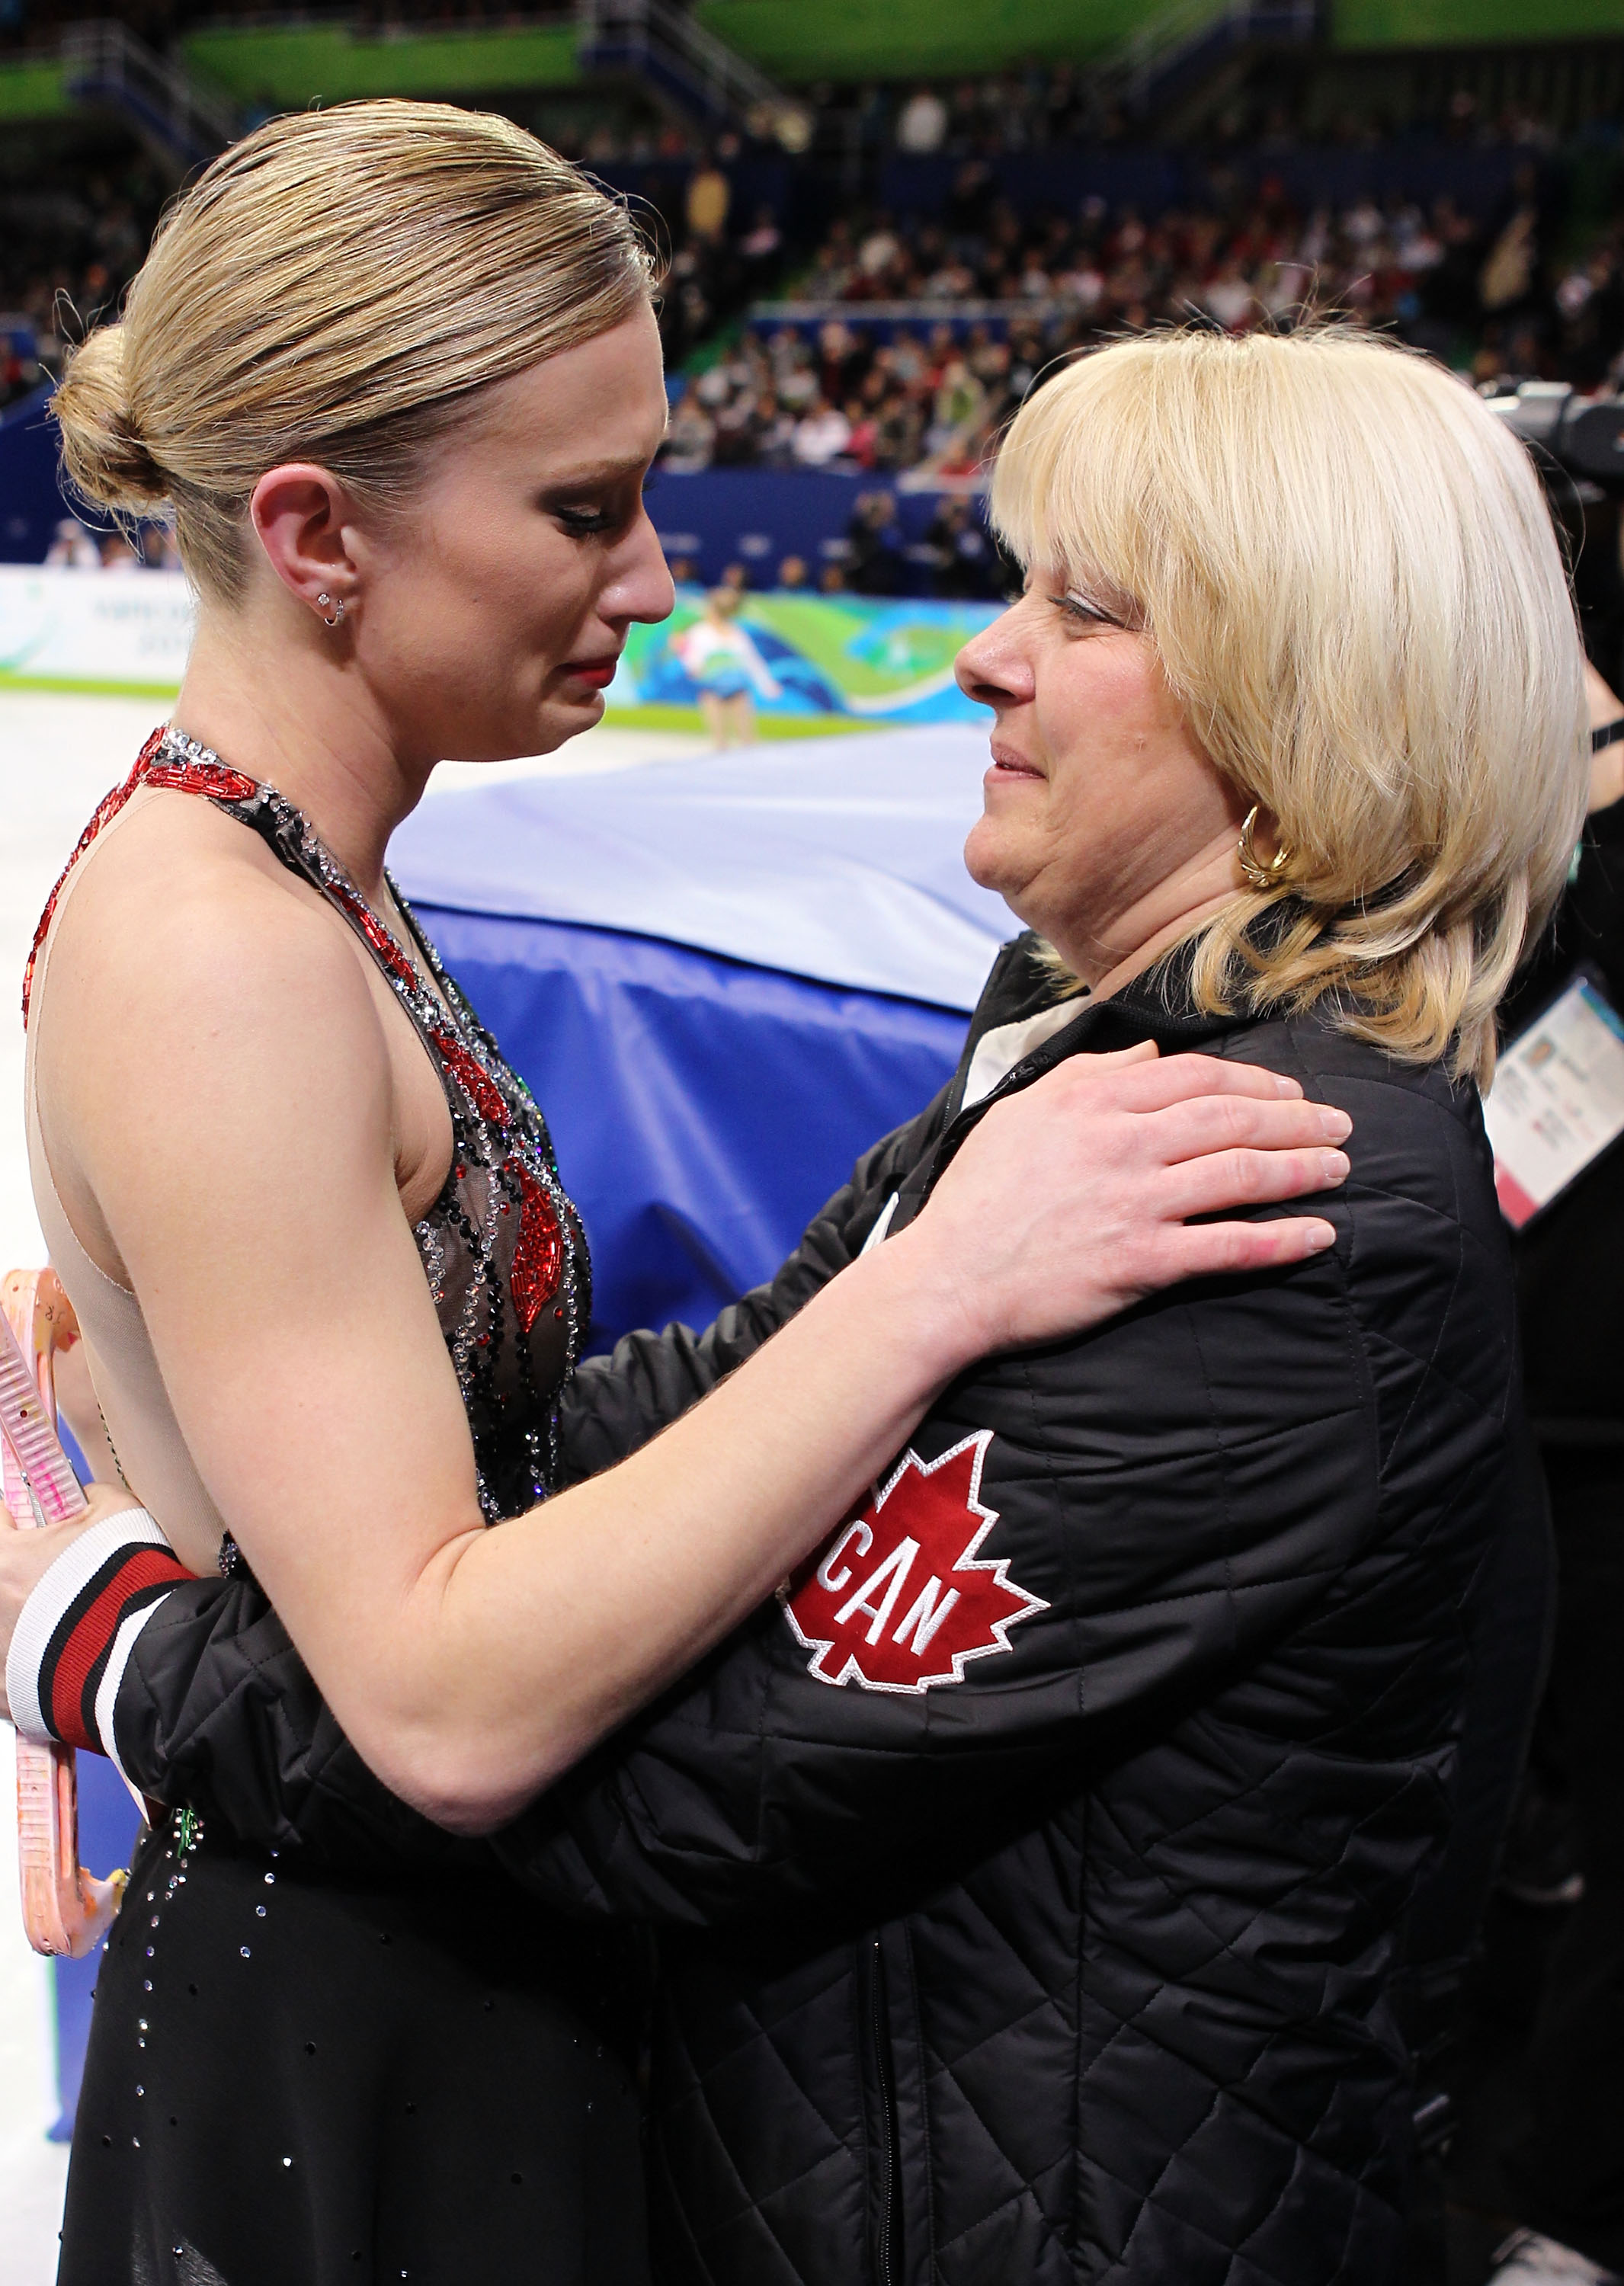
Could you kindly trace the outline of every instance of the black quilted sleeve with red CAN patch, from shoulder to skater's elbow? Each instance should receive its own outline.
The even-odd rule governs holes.
[[[1356,1118],[1354,1182],[1324,1209],[1334,1253],[1183,1287],[968,1376],[862,1529],[835,1536],[823,1580],[803,1575],[526,1811],[496,1838],[503,1861],[574,1911],[718,1925],[862,1884],[871,1913],[890,1879],[963,1868],[1093,1763],[1281,1657],[1354,1566],[1404,1561],[1505,1452],[1487,1152],[1418,1093],[1320,1072],[1313,1093]],[[1382,1335],[1400,1296],[1402,1353]],[[913,1657],[949,1584],[965,1600]],[[1308,1692],[1336,1666],[1315,1657]]]

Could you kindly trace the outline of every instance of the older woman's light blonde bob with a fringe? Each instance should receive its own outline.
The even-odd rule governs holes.
[[[1151,334],[1022,407],[993,521],[1151,638],[1212,764],[1279,821],[1279,885],[1196,930],[1199,1004],[1329,1001],[1487,1086],[1590,757],[1523,446],[1441,366],[1345,327]]]

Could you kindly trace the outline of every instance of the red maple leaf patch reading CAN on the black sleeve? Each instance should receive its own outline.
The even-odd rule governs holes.
[[[908,1449],[867,1509],[835,1532],[785,1600],[819,1682],[865,1692],[929,1692],[963,1682],[965,1662],[1009,1650],[1009,1630],[1048,1612],[1009,1577],[1006,1557],[977,1554],[997,1522],[979,1502],[993,1442],[977,1429],[938,1461]]]

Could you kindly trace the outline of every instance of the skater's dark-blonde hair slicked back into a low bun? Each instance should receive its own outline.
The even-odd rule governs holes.
[[[608,331],[652,293],[627,208],[508,119],[343,103],[272,119],[176,199],[124,318],[53,398],[75,487],[174,517],[194,585],[247,578],[281,462],[400,505],[476,391]]]

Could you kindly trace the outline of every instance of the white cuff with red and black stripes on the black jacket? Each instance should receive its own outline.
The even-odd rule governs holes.
[[[37,1744],[59,1740],[119,1760],[112,1708],[146,1621],[192,1573],[146,1509],[82,1532],[39,1580],[5,1662],[11,1721]]]

